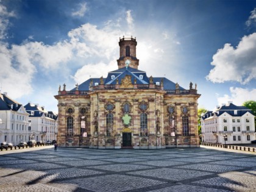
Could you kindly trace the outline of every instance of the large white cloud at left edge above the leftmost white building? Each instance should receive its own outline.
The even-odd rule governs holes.
[[[23,46],[8,49],[7,44],[0,44],[1,84],[13,99],[32,93],[31,81],[36,68],[29,58],[29,52]]]

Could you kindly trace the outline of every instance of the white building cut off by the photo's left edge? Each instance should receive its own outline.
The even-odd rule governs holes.
[[[14,145],[29,140],[29,114],[23,105],[0,93],[0,143]]]

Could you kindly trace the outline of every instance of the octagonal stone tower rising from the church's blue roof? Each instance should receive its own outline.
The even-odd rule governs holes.
[[[118,69],[125,66],[138,69],[139,60],[136,57],[136,38],[119,38],[120,56],[117,60]]]

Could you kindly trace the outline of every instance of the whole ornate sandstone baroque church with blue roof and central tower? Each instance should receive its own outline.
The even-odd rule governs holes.
[[[138,69],[136,38],[119,38],[118,69],[59,87],[57,143],[99,149],[197,148],[197,94]]]

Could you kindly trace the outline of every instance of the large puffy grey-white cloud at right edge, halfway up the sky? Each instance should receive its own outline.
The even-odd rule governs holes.
[[[244,36],[238,46],[233,48],[225,44],[213,55],[214,68],[210,71],[207,80],[222,83],[236,81],[247,84],[256,79],[256,33]]]

